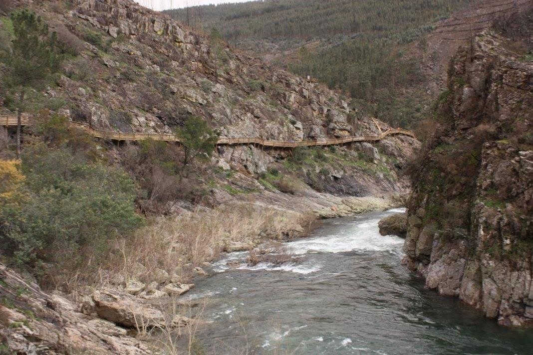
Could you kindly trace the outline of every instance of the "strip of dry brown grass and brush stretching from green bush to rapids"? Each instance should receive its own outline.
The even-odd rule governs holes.
[[[272,240],[303,236],[314,221],[316,216],[312,213],[253,203],[233,203],[215,209],[199,207],[178,216],[152,217],[132,236],[111,241],[106,258],[91,256],[87,251],[84,263],[74,270],[69,258],[55,265],[43,265],[42,273],[46,276],[43,286],[60,288],[76,297],[84,285],[105,286],[120,279],[117,275],[138,278],[135,274],[139,274],[139,264],[146,268],[142,281],[148,282],[158,268],[186,282],[192,277],[194,266],[215,259],[231,243],[256,244],[260,235]]]

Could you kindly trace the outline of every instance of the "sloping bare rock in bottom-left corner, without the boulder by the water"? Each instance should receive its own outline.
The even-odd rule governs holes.
[[[46,294],[0,265],[0,339],[17,354],[119,354],[155,352],[114,321],[78,312],[60,294]],[[132,324],[128,324],[132,326]]]

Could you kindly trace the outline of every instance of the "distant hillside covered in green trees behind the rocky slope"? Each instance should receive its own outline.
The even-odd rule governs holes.
[[[270,0],[168,11],[205,31],[216,28],[248,49],[301,76],[349,93],[393,126],[419,121],[432,98],[411,47],[469,0]]]

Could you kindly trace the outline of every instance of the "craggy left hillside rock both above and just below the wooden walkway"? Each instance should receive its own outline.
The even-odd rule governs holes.
[[[223,137],[282,141],[378,135],[390,128],[324,85],[271,68],[133,1],[21,5],[41,14],[62,42],[77,48],[45,93],[66,102],[63,112],[74,121],[105,130],[172,133],[196,115]],[[350,168],[336,160],[317,167],[329,171],[322,191],[359,196],[400,192],[406,184],[397,172],[416,144],[395,136],[353,145],[354,159],[368,164]],[[288,154],[254,146],[219,149],[221,161],[250,175],[264,174]],[[390,171],[392,178],[380,170]],[[303,179],[306,174],[301,171]]]

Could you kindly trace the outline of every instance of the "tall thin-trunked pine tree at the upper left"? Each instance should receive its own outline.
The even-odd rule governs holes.
[[[25,96],[29,89],[38,89],[56,72],[60,63],[55,32],[33,11],[14,11],[10,15],[13,38],[9,48],[1,53],[6,66],[3,87],[13,96],[17,109],[17,156],[20,157],[21,115],[26,109]]]

